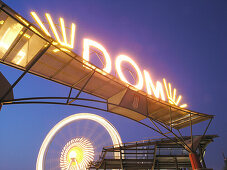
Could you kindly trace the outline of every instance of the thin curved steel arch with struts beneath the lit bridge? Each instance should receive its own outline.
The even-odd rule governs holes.
[[[93,74],[94,74],[94,72],[92,72],[92,74],[90,74],[90,77],[89,77],[88,80],[85,82],[84,86],[86,86],[86,84],[88,83],[88,81],[90,80],[90,78],[92,77]],[[18,82],[17,82],[17,83],[18,83]],[[83,86],[83,87],[84,87],[84,86]],[[14,87],[15,87],[15,86],[14,86]],[[2,104],[2,105],[12,105],[12,104],[57,104],[57,105],[69,105],[69,106],[79,106],[79,107],[91,108],[91,109],[96,109],[96,110],[105,111],[105,112],[110,112],[110,113],[114,113],[114,112],[109,111],[108,108],[105,107],[105,106],[97,107],[97,105],[95,105],[95,103],[101,103],[101,104],[106,104],[106,105],[107,105],[107,104],[111,104],[111,105],[114,105],[114,106],[119,106],[119,105],[116,105],[116,104],[114,104],[114,103],[109,103],[108,101],[101,101],[101,100],[95,100],[95,99],[89,99],[89,98],[80,98],[79,95],[82,93],[82,90],[80,90],[80,91],[77,93],[77,95],[76,95],[75,98],[74,98],[74,97],[70,97],[71,92],[72,92],[71,89],[72,89],[72,88],[70,88],[69,96],[67,96],[67,97],[31,97],[31,98],[18,98],[18,99],[13,99],[13,100],[5,100],[5,101],[3,100],[3,101],[1,102],[1,104]],[[39,100],[39,101],[37,101],[37,100]],[[40,100],[43,100],[43,101],[40,101]],[[46,101],[46,100],[49,100],[49,101]],[[53,100],[61,100],[61,101],[56,102],[56,101],[53,101]],[[66,100],[66,102],[65,102],[65,100]],[[71,100],[71,101],[68,102],[69,100]],[[76,104],[76,103],[73,103],[73,102],[76,102],[76,101],[91,101],[91,102],[94,102],[94,106],[93,106],[93,105],[83,105],[83,104]],[[105,107],[105,108],[103,108],[103,107]],[[122,106],[121,106],[121,107],[122,107]],[[114,114],[116,114],[116,113],[114,113]],[[120,114],[118,114],[118,115],[120,115]],[[123,115],[120,115],[120,116],[123,116]],[[126,117],[126,116],[123,116],[123,117]],[[129,117],[126,117],[126,118],[129,118]],[[171,129],[170,127],[164,125],[163,123],[159,122],[158,120],[154,120],[153,118],[151,118],[151,117],[149,117],[149,116],[147,116],[147,118],[150,120],[150,122],[152,123],[151,125],[153,125],[154,127],[152,127],[152,126],[151,126],[150,124],[148,124],[148,123],[143,123],[143,122],[141,122],[141,121],[136,121],[136,120],[131,119],[131,118],[129,118],[129,119],[134,120],[134,121],[136,121],[136,122],[138,122],[138,123],[140,123],[140,124],[142,124],[142,125],[144,125],[144,126],[150,128],[150,129],[154,130],[155,132],[161,134],[162,136],[165,136],[166,138],[172,140],[172,141],[173,141],[174,143],[176,143],[177,145],[180,145],[180,146],[185,147],[189,152],[194,152],[194,151],[192,150],[192,148],[190,148],[190,147],[186,144],[186,142],[185,142],[185,140],[183,139],[182,134],[181,134],[181,132],[180,132],[179,129],[177,129],[177,131],[178,131],[178,133],[179,133],[179,135],[178,135],[178,134],[176,134],[176,133],[173,131],[174,128]],[[208,125],[207,125],[207,127],[206,127],[206,129],[205,129],[205,131],[204,131],[204,133],[203,133],[202,138],[205,136],[206,131],[207,131],[209,125],[211,124],[211,121],[212,121],[212,119],[210,119],[210,121],[209,121],[209,123],[208,123]],[[160,127],[162,127],[162,128],[164,128],[165,130],[167,130],[167,132],[164,133],[164,132],[157,126],[157,124],[158,124]],[[193,135],[193,133],[192,133],[192,125],[190,126],[190,128],[191,128],[191,136],[192,136],[192,135]],[[175,140],[175,139],[172,139],[171,136],[169,136],[168,134],[174,136],[176,140]],[[193,142],[193,141],[192,141],[192,142]]]

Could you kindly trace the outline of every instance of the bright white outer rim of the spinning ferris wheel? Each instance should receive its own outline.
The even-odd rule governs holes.
[[[49,131],[49,133],[45,137],[45,139],[40,147],[39,154],[37,157],[37,162],[36,162],[36,170],[44,169],[43,167],[44,167],[44,163],[45,163],[45,156],[47,153],[47,149],[48,149],[51,141],[54,139],[55,135],[66,125],[69,125],[76,120],[83,120],[83,119],[92,120],[92,121],[95,121],[95,122],[99,123],[100,125],[102,125],[109,133],[114,146],[119,146],[122,143],[121,137],[120,137],[117,129],[108,120],[106,120],[103,117],[98,116],[96,114],[77,113],[77,114],[64,118],[63,120],[58,122]],[[118,156],[118,153],[116,153],[115,156]]]

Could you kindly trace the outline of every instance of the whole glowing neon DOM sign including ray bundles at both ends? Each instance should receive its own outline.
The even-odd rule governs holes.
[[[45,27],[45,25],[43,24],[41,19],[38,17],[38,15],[35,12],[31,12],[31,15],[34,18],[34,20],[37,22],[39,27],[44,31],[44,33],[47,36],[51,37],[50,32],[47,30],[47,28]],[[61,27],[61,37],[63,38],[63,40],[61,40],[60,36],[58,34],[58,31],[57,31],[57,28],[55,27],[55,24],[54,24],[54,22],[51,18],[51,15],[46,13],[45,16],[46,16],[46,19],[47,19],[47,21],[50,25],[52,33],[55,36],[57,42],[61,46],[65,47],[65,48],[62,48],[62,50],[67,50],[67,48],[73,49],[74,48],[76,25],[74,23],[71,24],[70,43],[68,43],[64,19],[59,18],[60,27]],[[88,61],[90,60],[90,47],[96,48],[99,51],[101,51],[104,58],[105,58],[106,64],[105,64],[103,70],[99,70],[99,69],[97,69],[97,70],[99,70],[102,74],[110,73],[111,69],[112,69],[112,62],[111,62],[110,55],[108,54],[108,52],[104,48],[104,46],[101,45],[100,43],[96,42],[96,41],[93,41],[93,40],[90,40],[90,39],[84,39],[83,40],[83,59],[84,59],[83,62],[86,63],[87,65],[91,66],[91,68],[94,68],[94,66],[92,66],[88,63]],[[123,62],[127,62],[127,63],[131,64],[131,66],[135,69],[135,71],[137,73],[137,77],[138,77],[137,84],[133,85],[127,80],[126,76],[123,73],[122,66],[121,66]],[[167,101],[170,104],[179,106],[181,108],[187,107],[187,104],[180,104],[182,96],[181,95],[177,96],[176,88],[173,88],[173,90],[172,90],[171,84],[170,83],[167,84],[165,78],[163,78],[163,82],[157,81],[156,84],[155,84],[152,81],[152,78],[151,78],[149,72],[146,71],[146,70],[143,70],[143,74],[142,74],[142,72],[141,72],[140,68],[138,67],[138,65],[136,64],[136,62],[133,61],[129,56],[127,56],[127,55],[117,56],[116,61],[115,61],[115,67],[116,67],[116,71],[117,71],[119,78],[123,82],[127,83],[127,85],[133,86],[138,90],[142,90],[143,86],[144,86],[144,80],[145,80],[145,86],[146,86],[147,94],[153,95],[156,98],[160,98],[163,101]],[[87,67],[87,69],[89,69],[89,68]],[[164,85],[164,87],[163,87],[163,85]]]

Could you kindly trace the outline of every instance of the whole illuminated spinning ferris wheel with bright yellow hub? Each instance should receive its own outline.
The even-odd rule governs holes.
[[[78,113],[58,122],[45,137],[36,170],[80,170],[99,159],[102,148],[120,146],[116,128],[101,116]],[[113,153],[119,157],[119,153]]]

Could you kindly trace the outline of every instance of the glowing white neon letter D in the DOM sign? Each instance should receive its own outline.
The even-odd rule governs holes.
[[[110,55],[108,54],[108,52],[106,51],[106,49],[99,43],[90,40],[90,39],[84,39],[84,46],[83,46],[83,59],[84,59],[84,63],[86,65],[91,66],[88,61],[90,60],[90,46],[97,48],[98,50],[100,50],[104,57],[105,57],[105,61],[106,61],[106,66],[103,68],[103,70],[107,73],[111,72],[111,59],[110,59]]]

